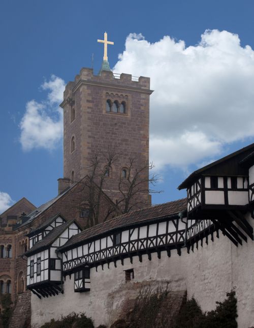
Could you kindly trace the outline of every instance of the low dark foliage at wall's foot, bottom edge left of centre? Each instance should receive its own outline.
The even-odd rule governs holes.
[[[51,319],[50,322],[44,323],[41,328],[94,328],[91,318],[87,318],[84,313],[71,313],[60,320]]]

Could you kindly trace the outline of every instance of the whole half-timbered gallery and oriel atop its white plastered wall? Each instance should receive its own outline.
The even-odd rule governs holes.
[[[49,241],[50,235],[57,234],[59,239],[58,229],[67,225],[60,215],[32,231],[31,244],[33,238],[42,238],[30,249],[27,259],[27,286],[35,292],[32,323],[42,324],[49,317],[60,316],[55,308],[51,310],[51,300],[57,297],[61,311],[85,309],[96,324],[111,324],[116,318],[115,308],[117,315],[125,311],[128,294],[136,292],[138,296],[138,283],[165,283],[172,291],[194,294],[203,310],[214,309],[215,302],[234,287],[239,326],[248,327],[254,320],[254,285],[246,281],[254,270],[253,167],[251,144],[190,174],[179,186],[186,188],[186,198],[118,216],[73,233],[64,243]],[[35,275],[32,257],[49,259],[52,251],[46,249],[56,245],[61,293],[53,294],[47,276],[45,285],[44,280],[32,280],[30,274],[34,266]],[[40,287],[43,284],[45,287]],[[47,297],[49,292],[54,297]],[[71,305],[66,305],[67,299]],[[40,312],[42,306],[44,314]]]

